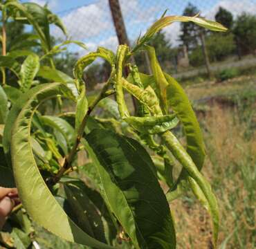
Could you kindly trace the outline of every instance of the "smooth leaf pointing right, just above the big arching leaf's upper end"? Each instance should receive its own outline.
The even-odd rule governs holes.
[[[66,73],[63,73],[57,69],[50,68],[49,66],[42,66],[39,69],[37,76],[43,77],[44,79],[50,80],[51,82],[73,82],[73,78],[66,75]]]

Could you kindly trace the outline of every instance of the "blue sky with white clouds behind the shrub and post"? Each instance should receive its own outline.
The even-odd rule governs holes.
[[[116,49],[118,41],[111,21],[108,0],[31,0],[43,5],[48,2],[49,8],[62,18],[71,39],[82,40],[89,50],[97,46],[107,46]],[[24,2],[24,1],[23,1]],[[129,39],[134,41],[138,35],[159,17],[165,9],[167,15],[181,15],[185,6],[192,2],[201,15],[214,19],[219,6],[227,8],[234,16],[246,11],[256,14],[256,0],[120,0],[122,14]],[[168,39],[176,46],[178,44],[179,24],[165,28]],[[57,29],[53,35],[61,37]],[[76,50],[71,46],[71,50]]]

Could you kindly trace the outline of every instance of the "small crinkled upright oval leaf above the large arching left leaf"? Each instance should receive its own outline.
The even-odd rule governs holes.
[[[19,84],[21,85],[21,91],[28,91],[30,89],[35,75],[39,71],[39,57],[37,55],[28,55],[25,61],[21,65],[20,71],[20,81]]]

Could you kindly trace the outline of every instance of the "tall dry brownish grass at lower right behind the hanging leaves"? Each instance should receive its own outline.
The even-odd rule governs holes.
[[[201,120],[208,151],[203,174],[219,200],[219,247],[253,248],[255,133],[250,140],[244,138],[247,126],[239,122],[234,109],[214,104],[210,110]],[[252,176],[244,178],[244,170]],[[192,196],[174,201],[171,208],[176,216],[178,248],[212,248],[210,218]]]

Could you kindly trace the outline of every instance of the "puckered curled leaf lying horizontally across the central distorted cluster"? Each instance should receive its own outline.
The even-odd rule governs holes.
[[[175,114],[154,117],[128,117],[124,119],[134,129],[142,133],[161,133],[176,127],[179,119]]]

